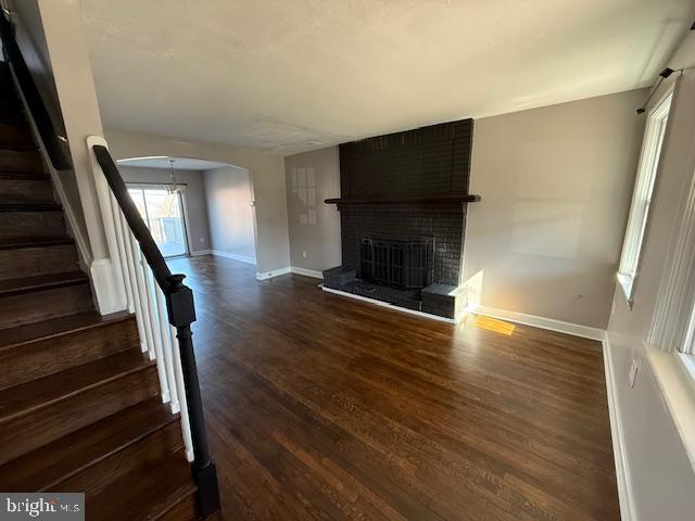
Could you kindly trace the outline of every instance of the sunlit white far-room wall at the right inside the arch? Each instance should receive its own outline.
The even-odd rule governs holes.
[[[210,238],[215,252],[255,262],[253,187],[249,173],[232,166],[203,173]]]

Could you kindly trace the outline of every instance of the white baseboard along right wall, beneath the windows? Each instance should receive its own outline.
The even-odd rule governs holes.
[[[616,480],[618,482],[618,500],[620,501],[620,517],[622,521],[637,521],[630,481],[630,468],[628,466],[627,449],[622,434],[622,420],[620,403],[616,389],[612,355],[608,335],[603,339],[604,371],[606,376],[606,395],[608,396],[608,415],[610,416],[610,435],[612,439],[612,453],[616,461]]]

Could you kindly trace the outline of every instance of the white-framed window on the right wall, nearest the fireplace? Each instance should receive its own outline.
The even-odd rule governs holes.
[[[666,134],[666,125],[671,107],[672,92],[669,92],[657,105],[652,109],[647,116],[644,141],[642,142],[642,154],[640,166],[637,167],[637,178],[632,194],[632,205],[630,206],[630,217],[626,230],[626,239],[622,244],[622,255],[620,267],[618,268],[618,281],[626,292],[628,302],[632,302],[634,280],[637,277],[640,267],[640,252],[644,242],[649,206],[652,204],[652,193],[654,192],[654,181],[659,165],[661,154],[661,143]]]

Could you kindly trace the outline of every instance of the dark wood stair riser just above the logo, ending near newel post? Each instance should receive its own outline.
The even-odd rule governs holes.
[[[99,494],[136,469],[155,463],[182,446],[181,429],[178,421],[174,421],[88,470],[51,487],[64,492],[84,492],[87,495]]]

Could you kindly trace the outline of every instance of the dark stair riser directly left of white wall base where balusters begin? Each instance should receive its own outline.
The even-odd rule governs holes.
[[[0,329],[93,309],[87,282],[0,296]]]

